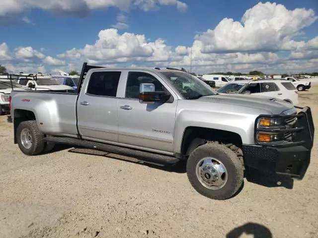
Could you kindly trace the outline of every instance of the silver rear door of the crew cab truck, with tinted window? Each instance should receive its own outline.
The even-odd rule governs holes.
[[[79,94],[79,134],[84,139],[118,142],[117,89],[121,70],[93,72]]]

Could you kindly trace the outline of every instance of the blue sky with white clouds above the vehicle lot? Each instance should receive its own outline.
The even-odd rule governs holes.
[[[4,57],[0,58],[0,64],[6,65],[13,71],[41,68],[48,72],[57,70],[57,68],[79,69],[83,60],[93,60],[92,62],[114,66],[173,65],[188,67],[189,59],[187,58],[189,58],[189,49],[192,47],[195,55],[192,62],[197,71],[202,72],[227,69],[246,71],[251,68],[261,68],[265,71],[286,71],[295,69],[295,67],[301,71],[315,71],[318,65],[317,0],[276,0],[267,3],[258,0],[139,1],[145,4],[155,2],[156,7],[138,5],[137,0],[119,0],[118,6],[111,6],[111,0],[101,0],[104,2],[104,7],[96,7],[96,0],[48,1],[50,2],[48,4],[33,4],[34,1],[22,0],[20,2],[24,2],[27,7],[19,8],[19,3],[12,0],[14,4],[2,6],[2,10],[0,9],[0,56]],[[81,6],[76,2],[85,3]],[[90,9],[87,10],[88,8]],[[261,16],[266,12],[266,10],[262,10],[265,8],[268,12]],[[296,8],[301,9],[295,10]],[[265,30],[261,28],[263,25],[252,22],[251,29],[247,29],[245,26],[244,31],[238,32],[239,27],[235,28],[237,27],[235,23],[228,22],[222,29],[208,32],[208,29],[214,30],[224,18],[232,18],[234,22],[238,21],[244,27],[244,23],[240,21],[248,9],[254,9],[254,13],[249,16],[249,19],[260,18],[258,20],[263,20],[262,24],[267,25],[266,22],[270,22],[275,17],[278,20],[276,19],[277,22],[266,26]],[[294,14],[293,11],[295,17],[291,17]],[[277,28],[277,25],[281,23],[279,16],[285,15],[284,19],[290,17],[289,22]],[[105,50],[127,49],[127,47],[140,49],[137,52],[128,50],[131,54],[120,52],[117,59],[116,51],[113,53],[115,55],[111,55],[111,57],[107,56],[107,51],[102,56],[95,57],[97,49],[100,51],[102,49],[100,47],[103,47],[101,45],[106,44],[94,45],[96,41],[100,41],[98,34],[103,30],[113,29],[117,22],[121,22],[122,27],[118,29],[116,37],[128,32],[133,34],[132,37],[144,35],[145,42],[135,46],[130,44],[130,38],[122,39],[126,40],[127,44],[126,42],[122,45],[113,44],[106,46]],[[263,30],[263,32],[268,31],[269,34],[266,36],[260,34],[257,38],[255,37],[258,35],[257,29]],[[227,33],[222,33],[223,31],[227,31]],[[277,31],[280,33],[276,34]],[[108,37],[109,32],[103,34],[106,34],[103,35],[104,39]],[[250,34],[250,37],[246,34]],[[196,35],[197,38],[195,38]],[[222,37],[224,39],[221,39]],[[241,39],[240,43],[235,41],[236,37]],[[249,44],[246,46],[245,37],[247,37],[247,41],[253,38],[255,46],[253,46],[252,40],[246,43]],[[269,39],[264,41],[264,37]],[[158,39],[163,39],[164,43],[157,44],[157,46],[150,44],[155,43]],[[306,45],[312,39],[314,42]],[[222,42],[228,46],[223,46]],[[261,43],[257,45],[258,42]],[[148,43],[150,46],[147,45],[145,48],[144,43]],[[84,49],[86,44],[93,46],[90,52]],[[232,47],[232,45],[234,46]],[[175,49],[178,46],[182,47],[178,48],[182,49],[182,54],[180,51],[176,53]],[[151,50],[148,47],[164,49]],[[31,52],[28,56],[22,54],[24,48],[29,53]],[[22,50],[19,52],[19,49],[22,49],[23,52]],[[66,54],[71,49],[74,49],[73,55]],[[74,54],[79,54],[76,59],[73,57]],[[167,54],[168,57],[164,57],[164,54]],[[311,60],[307,66],[306,60]],[[272,68],[273,65],[276,65],[275,68]]]

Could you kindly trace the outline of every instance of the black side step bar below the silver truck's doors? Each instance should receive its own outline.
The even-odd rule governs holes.
[[[44,138],[44,140],[46,142],[52,142],[55,144],[66,144],[66,145],[85,147],[85,148],[95,149],[95,150],[103,150],[109,153],[130,156],[145,162],[151,162],[151,163],[161,164],[161,165],[173,165],[179,162],[179,159],[173,156],[161,155],[157,153],[130,149],[126,147],[104,144],[104,143],[99,143],[99,142],[94,142],[89,140],[82,140],[78,138],[47,136]]]

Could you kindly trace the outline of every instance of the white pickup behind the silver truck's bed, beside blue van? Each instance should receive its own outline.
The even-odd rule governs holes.
[[[72,87],[61,85],[51,76],[22,76],[19,77],[18,83],[24,87],[31,88],[32,90],[55,92],[74,91]]]

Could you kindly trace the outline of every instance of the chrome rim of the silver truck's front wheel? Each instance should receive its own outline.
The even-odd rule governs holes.
[[[228,171],[224,164],[213,157],[201,159],[196,166],[196,175],[206,188],[217,190],[228,181]]]

